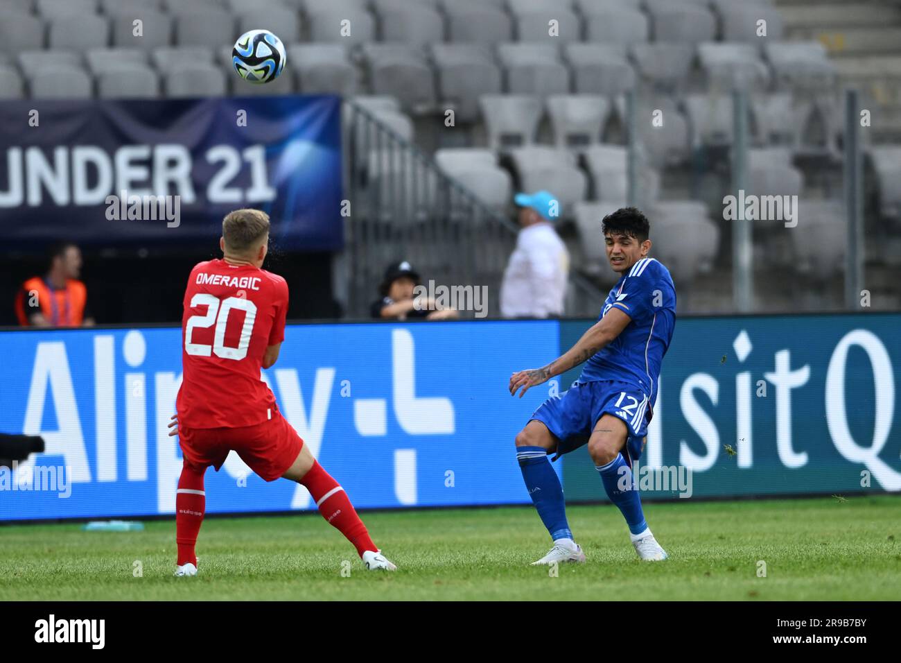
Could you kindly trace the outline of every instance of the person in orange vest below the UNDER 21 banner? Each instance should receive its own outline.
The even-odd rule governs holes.
[[[62,242],[50,250],[50,271],[22,285],[15,298],[15,314],[23,327],[91,327],[87,289],[78,281],[81,251]]]

